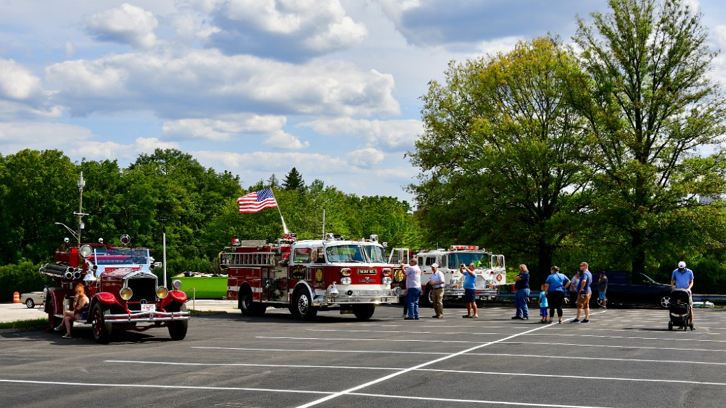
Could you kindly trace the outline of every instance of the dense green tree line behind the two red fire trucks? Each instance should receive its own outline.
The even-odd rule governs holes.
[[[232,238],[274,242],[282,221],[298,239],[322,237],[325,231],[360,239],[378,234],[395,246],[420,242],[409,203],[395,197],[358,197],[326,186],[306,184],[292,168],[280,183],[242,187],[238,176],[205,168],[179,150],[155,150],[120,168],[116,160],[73,163],[58,150],[23,150],[0,155],[0,301],[17,291],[41,290],[52,283],[38,273],[52,262],[64,237],[62,227],[78,229],[78,179],[83,172],[83,242],[119,244],[129,234],[132,245],[152,248],[162,258],[166,232],[167,275],[184,271],[219,272],[217,256]],[[272,187],[280,212],[267,209],[240,214],[237,197]]]

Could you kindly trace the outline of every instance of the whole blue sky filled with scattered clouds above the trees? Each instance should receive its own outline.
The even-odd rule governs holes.
[[[726,6],[703,12],[726,49]],[[244,187],[293,166],[412,202],[420,97],[451,60],[507,52],[605,0],[0,0],[0,154],[175,148]],[[726,78],[719,56],[713,75]]]

